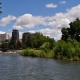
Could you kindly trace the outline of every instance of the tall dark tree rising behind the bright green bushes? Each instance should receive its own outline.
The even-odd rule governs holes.
[[[80,20],[77,18],[75,21],[71,22],[70,28],[62,28],[62,40],[67,40],[68,38],[76,39],[80,41]]]

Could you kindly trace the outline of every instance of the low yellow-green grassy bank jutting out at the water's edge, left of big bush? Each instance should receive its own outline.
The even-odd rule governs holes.
[[[54,57],[54,53],[52,50],[50,50],[46,53],[44,50],[35,50],[35,49],[30,49],[30,48],[21,50],[20,55],[32,56],[32,57],[44,57],[44,58],[53,58]]]

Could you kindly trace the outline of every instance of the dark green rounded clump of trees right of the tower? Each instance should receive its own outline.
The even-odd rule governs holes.
[[[36,32],[35,34],[24,33],[22,38],[23,44],[30,48],[39,48],[45,42],[54,42],[54,39],[43,36],[42,33]],[[52,46],[51,46],[52,48]]]

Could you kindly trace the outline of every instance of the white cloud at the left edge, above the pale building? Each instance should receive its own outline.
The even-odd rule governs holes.
[[[15,16],[8,15],[7,17],[2,18],[0,20],[0,26],[6,26],[6,25],[10,24],[10,22],[12,20],[16,20],[16,17]]]

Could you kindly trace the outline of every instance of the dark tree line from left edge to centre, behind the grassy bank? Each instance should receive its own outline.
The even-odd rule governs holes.
[[[26,33],[23,34],[22,42],[19,40],[16,40],[15,35],[12,36],[11,40],[5,40],[4,44],[1,45],[2,48],[8,48],[8,49],[26,49],[26,48],[32,48],[32,49],[40,49],[40,46],[43,44],[45,45],[45,52],[47,52],[47,49],[52,49],[54,46],[54,39],[43,36],[42,33],[36,32],[35,34]]]

